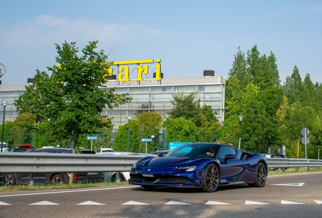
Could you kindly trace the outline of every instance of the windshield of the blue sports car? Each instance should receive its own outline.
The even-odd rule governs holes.
[[[218,147],[211,144],[185,144],[181,145],[166,156],[176,157],[213,157],[216,156]]]

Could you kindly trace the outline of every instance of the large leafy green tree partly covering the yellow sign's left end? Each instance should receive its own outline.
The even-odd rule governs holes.
[[[56,139],[73,141],[73,152],[81,134],[93,134],[108,128],[101,112],[112,110],[131,100],[128,94],[115,94],[114,89],[101,89],[107,80],[111,62],[106,62],[104,50],[96,52],[97,41],[89,42],[78,57],[75,42],[56,44],[58,65],[37,73],[32,85],[15,101],[21,113],[36,115],[36,121],[49,120],[49,128]]]

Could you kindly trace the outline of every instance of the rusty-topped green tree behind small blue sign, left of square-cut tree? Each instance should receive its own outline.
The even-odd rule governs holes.
[[[143,112],[138,115],[137,123],[138,141],[140,145],[138,151],[145,153],[145,146],[147,145],[148,153],[155,151],[159,145],[159,131],[162,128],[162,116],[154,112]],[[151,138],[154,136],[152,142],[141,142],[142,138]]]

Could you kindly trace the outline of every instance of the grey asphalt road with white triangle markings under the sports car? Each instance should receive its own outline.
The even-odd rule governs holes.
[[[0,192],[0,217],[322,217],[322,173],[270,176],[263,188],[104,186]]]

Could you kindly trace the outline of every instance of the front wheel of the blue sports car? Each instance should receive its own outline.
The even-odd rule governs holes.
[[[214,163],[207,166],[203,175],[203,190],[205,192],[214,192],[219,185],[219,170]]]

